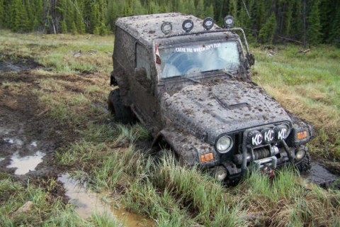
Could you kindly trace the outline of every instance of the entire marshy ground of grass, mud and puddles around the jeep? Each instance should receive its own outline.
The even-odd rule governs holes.
[[[147,130],[108,114],[113,39],[0,31],[0,226],[340,224],[339,49],[255,49],[254,81],[316,127],[314,169],[226,188],[169,157],[154,165],[136,145]]]

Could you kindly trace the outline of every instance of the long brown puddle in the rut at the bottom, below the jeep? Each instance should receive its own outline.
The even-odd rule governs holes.
[[[64,184],[65,195],[69,197],[69,202],[74,204],[77,213],[82,218],[89,218],[93,213],[106,214],[123,223],[123,226],[154,226],[154,222],[144,216],[130,213],[122,208],[116,209],[118,204],[115,203],[114,199],[108,199],[108,203],[103,203],[99,198],[100,194],[81,187],[68,174],[61,175],[58,180]]]

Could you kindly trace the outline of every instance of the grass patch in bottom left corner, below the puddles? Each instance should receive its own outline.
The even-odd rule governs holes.
[[[51,182],[50,182],[51,184]],[[52,182],[53,184],[53,182]],[[39,187],[27,182],[23,184],[11,175],[0,173],[0,226],[120,226],[118,221],[106,215],[93,214],[84,219],[74,211],[74,206],[64,204],[52,195],[53,185]],[[17,210],[32,202],[30,210],[20,213]]]

